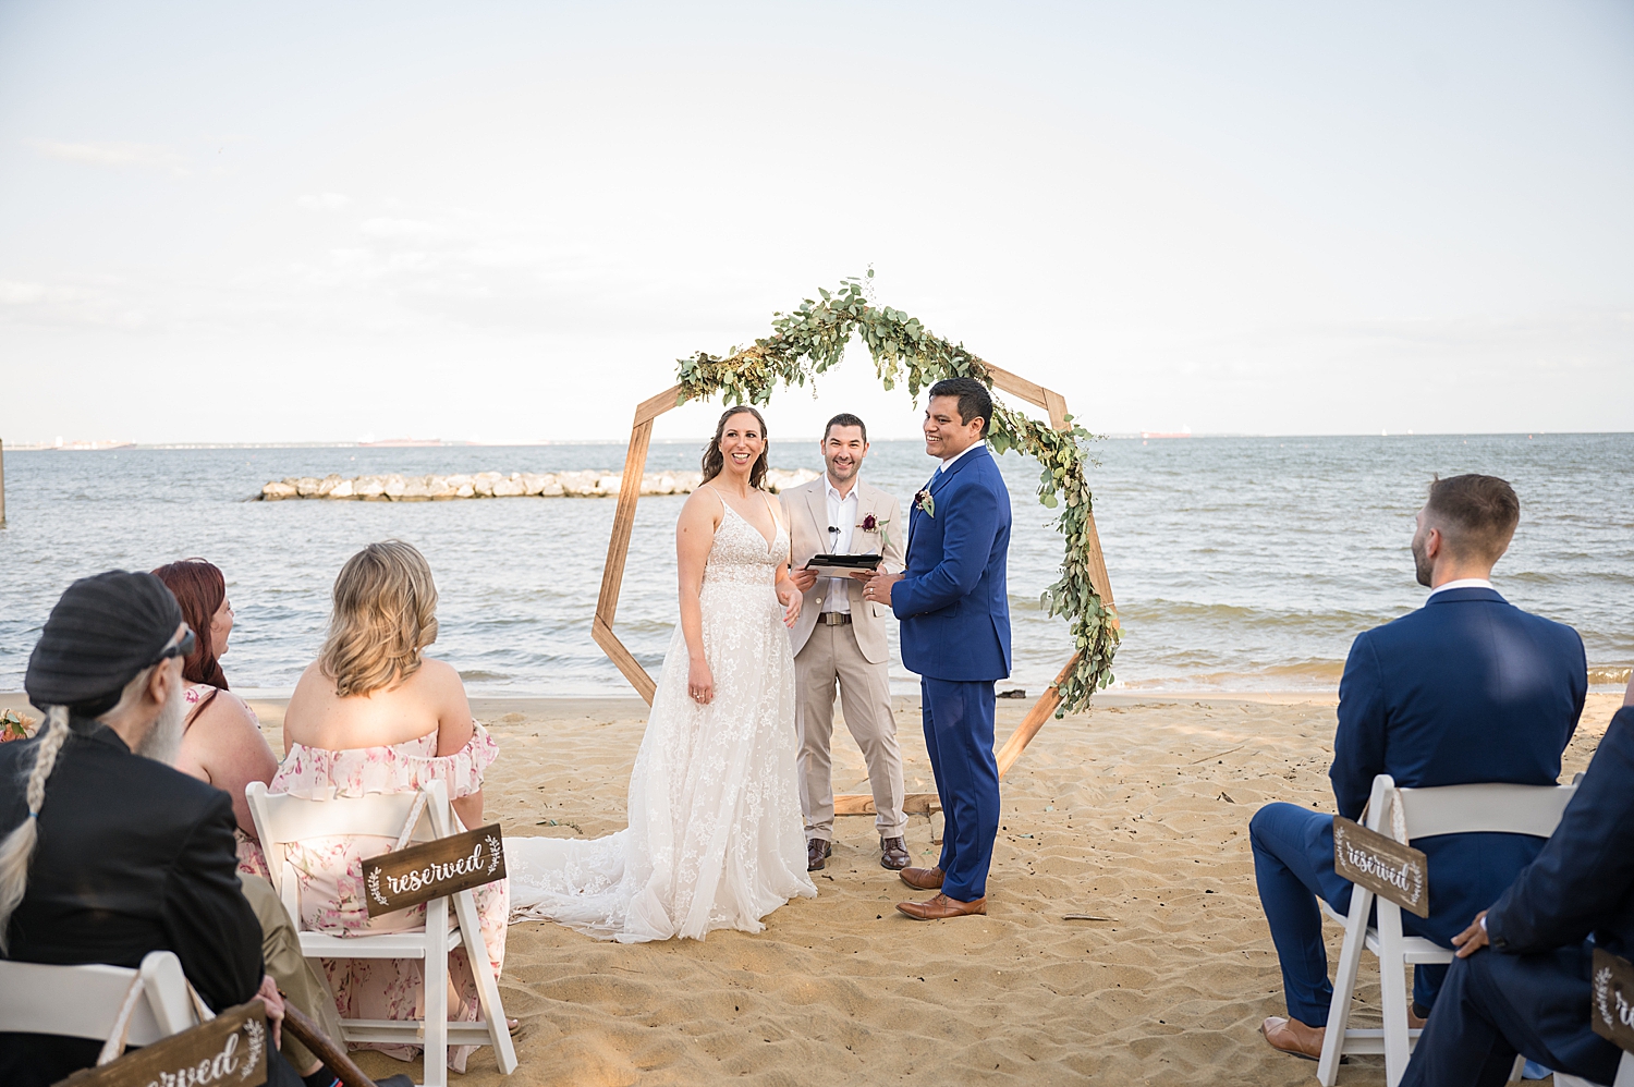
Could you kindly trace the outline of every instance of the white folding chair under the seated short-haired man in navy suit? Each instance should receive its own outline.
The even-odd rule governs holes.
[[[1397,788],[1395,780],[1381,773],[1373,780],[1366,827],[1410,843],[1435,834],[1529,834],[1546,839],[1554,834],[1560,814],[1577,793],[1572,785],[1443,785],[1430,790]],[[1435,886],[1430,888],[1435,901]],[[1384,1080],[1397,1087],[1407,1074],[1418,1030],[1407,1028],[1407,966],[1451,963],[1453,951],[1423,937],[1402,935],[1402,907],[1356,886],[1350,894],[1350,917],[1342,917],[1317,899],[1333,920],[1345,925],[1345,946],[1333,979],[1333,1002],[1328,1005],[1327,1036],[1317,1080],[1333,1087],[1338,1061],[1346,1053],[1382,1053]],[[1368,914],[1377,904],[1377,927],[1368,925]],[[1379,960],[1379,1002],[1384,1005],[1382,1030],[1350,1030],[1350,1000],[1356,992],[1356,969],[1366,948]],[[1515,1062],[1511,1080],[1523,1061]],[[1619,1085],[1621,1087],[1621,1085]]]

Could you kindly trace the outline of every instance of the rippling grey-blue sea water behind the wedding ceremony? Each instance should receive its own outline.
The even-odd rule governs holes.
[[[649,471],[696,469],[701,440],[655,441]],[[222,567],[237,610],[222,667],[235,688],[294,685],[322,642],[340,564],[400,538],[431,564],[440,637],[475,695],[631,693],[590,639],[611,499],[425,503],[248,502],[289,476],[619,471],[626,443],[165,443],[64,456],[7,446],[0,531],[0,690],[21,688],[51,605],[75,577],[186,556]],[[1634,662],[1634,435],[1108,436],[1092,445],[1095,513],[1124,628],[1126,691],[1332,693],[1351,639],[1423,602],[1412,515],[1435,474],[1515,484],[1521,525],[1493,582],[1508,600],[1583,636],[1592,678],[1613,690]],[[771,463],[819,469],[814,441]],[[1070,654],[1039,593],[1060,538],[1036,464],[1000,458],[1015,531],[1015,672],[1036,695]],[[915,440],[876,441],[863,474],[904,505],[935,463]],[[685,499],[641,500],[616,629],[657,672],[675,621],[672,530]],[[917,688],[900,659],[900,693]]]

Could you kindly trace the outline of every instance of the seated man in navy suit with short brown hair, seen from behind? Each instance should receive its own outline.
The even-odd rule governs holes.
[[[1400,786],[1511,781],[1556,785],[1588,691],[1583,641],[1569,626],[1507,603],[1489,580],[1520,523],[1515,490],[1493,476],[1430,485],[1413,533],[1425,606],[1364,631],[1338,687],[1333,799],[1361,819],[1373,778]],[[1273,1048],[1317,1058],[1333,986],[1315,896],[1350,910],[1333,871],[1333,817],[1266,804],[1248,827],[1260,904],[1283,966],[1288,1018],[1266,1018]],[[1430,863],[1430,917],[1402,915],[1412,935],[1453,946],[1458,935],[1542,848],[1518,834],[1420,839]],[[1415,1020],[1428,1015],[1444,966],[1413,971]]]

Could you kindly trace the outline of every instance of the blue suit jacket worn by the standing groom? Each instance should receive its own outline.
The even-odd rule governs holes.
[[[902,664],[933,680],[1010,675],[1010,490],[985,445],[936,474],[935,513],[913,503],[907,569],[891,587]]]

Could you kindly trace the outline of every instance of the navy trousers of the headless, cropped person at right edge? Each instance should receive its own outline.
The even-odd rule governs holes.
[[[1516,1051],[1595,1084],[1616,1079],[1621,1051],[1588,1027],[1592,945],[1539,955],[1482,950],[1456,960],[1402,1087],[1498,1087]]]

